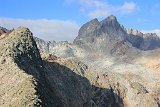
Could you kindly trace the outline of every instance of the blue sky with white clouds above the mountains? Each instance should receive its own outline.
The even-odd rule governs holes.
[[[2,0],[0,26],[28,27],[44,40],[73,41],[91,19],[114,15],[126,28],[160,36],[160,0]]]

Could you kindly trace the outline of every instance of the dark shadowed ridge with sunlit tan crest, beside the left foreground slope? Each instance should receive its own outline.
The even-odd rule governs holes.
[[[87,76],[90,69],[84,63],[58,57],[51,59],[49,56],[44,58],[44,66],[47,81],[53,84],[51,85],[53,92],[56,91],[56,96],[63,101],[63,103],[59,101],[57,106],[64,104],[68,107],[124,106],[121,97],[112,87],[101,88],[101,85],[90,84],[91,78]],[[79,81],[75,81],[77,79]]]

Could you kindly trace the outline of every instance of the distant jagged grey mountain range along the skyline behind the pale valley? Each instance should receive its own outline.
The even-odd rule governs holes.
[[[59,55],[64,57],[75,56],[77,48],[104,55],[124,55],[130,48],[142,51],[160,48],[160,38],[155,33],[144,34],[135,29],[126,29],[113,15],[100,22],[93,19],[84,24],[73,43],[67,41],[56,43],[37,37],[35,41],[40,51],[54,54],[63,52],[63,55]],[[63,47],[63,50],[59,47]]]

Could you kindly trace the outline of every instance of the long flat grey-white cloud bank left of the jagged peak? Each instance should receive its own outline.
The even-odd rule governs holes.
[[[44,40],[68,40],[78,35],[79,26],[72,21],[63,20],[29,20],[29,19],[12,19],[0,18],[0,26],[8,29],[17,28],[19,26],[28,27],[34,34]]]

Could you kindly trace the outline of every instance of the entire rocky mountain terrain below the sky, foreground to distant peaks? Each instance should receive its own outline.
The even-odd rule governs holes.
[[[0,107],[160,107],[160,39],[116,17],[73,43],[0,27]]]

